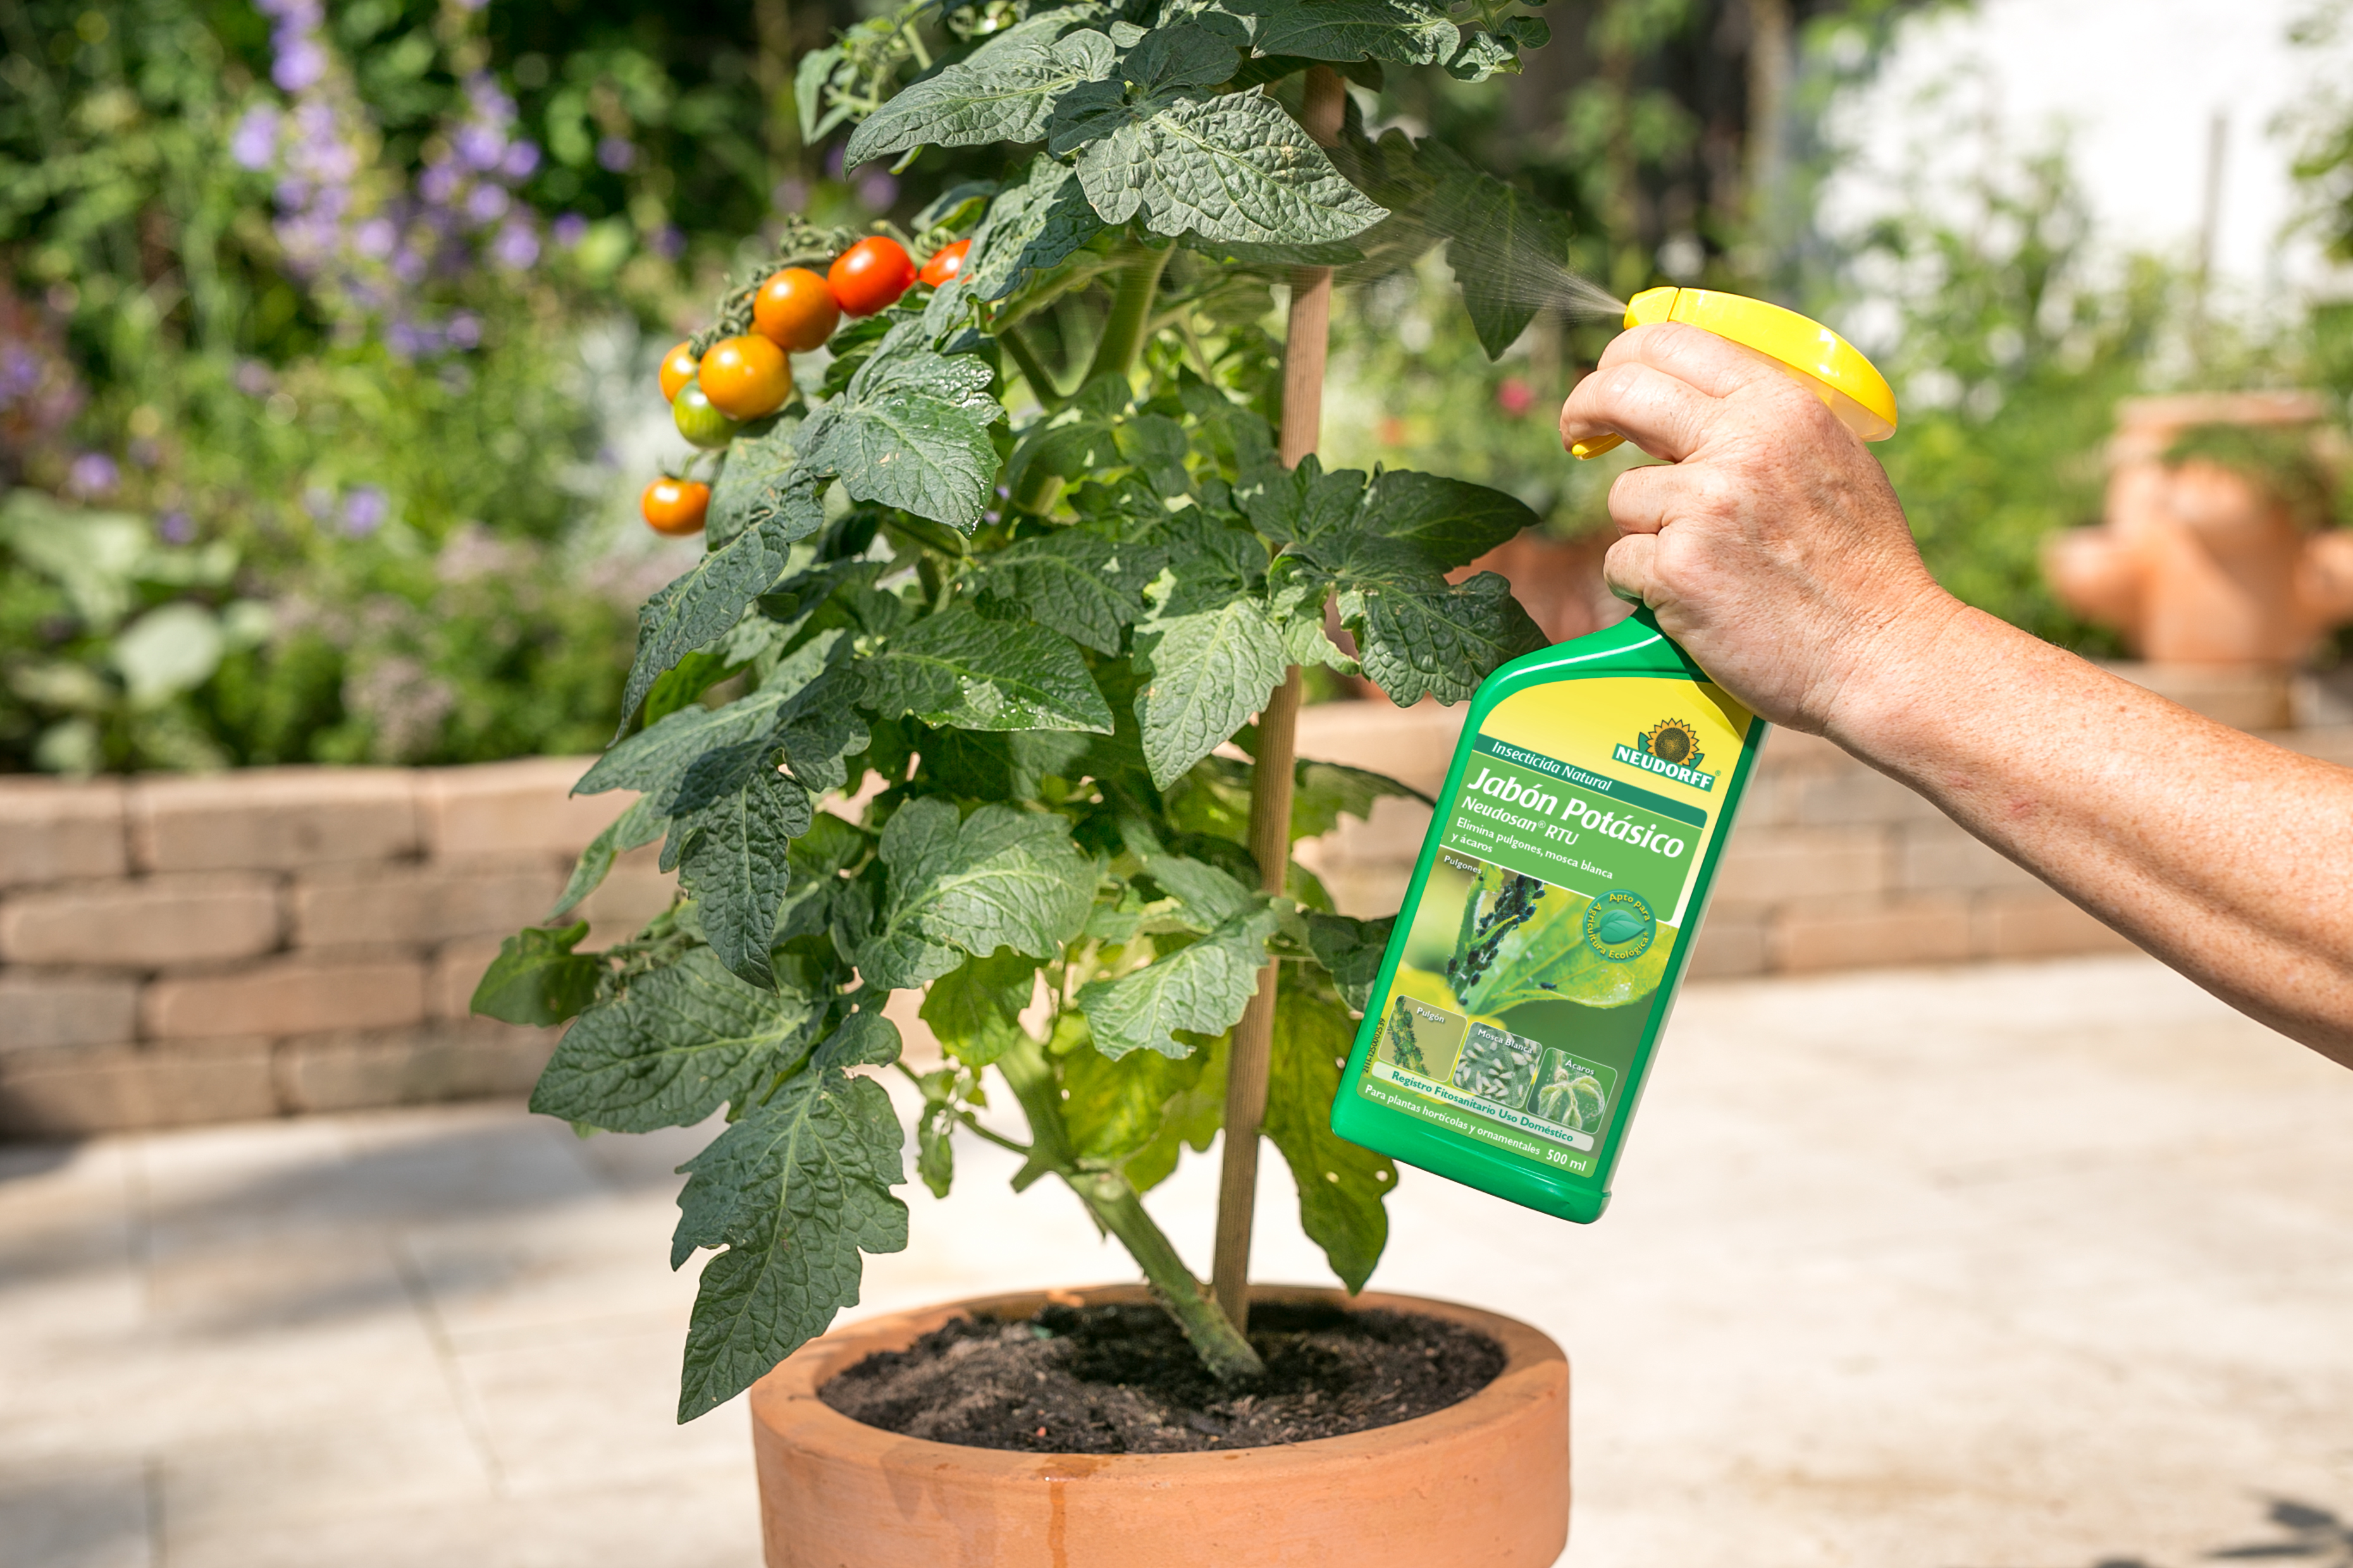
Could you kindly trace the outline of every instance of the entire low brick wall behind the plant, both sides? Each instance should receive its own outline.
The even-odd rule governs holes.
[[[1329,703],[1299,750],[1435,792],[1461,710]],[[2353,726],[2278,736],[2353,762]],[[0,1135],[235,1121],[529,1088],[551,1030],[466,1016],[499,938],[555,903],[626,795],[584,759],[0,778]],[[1381,802],[1301,860],[1398,907],[1428,809]],[[591,945],[668,907],[654,849],[586,903]],[[2106,926],[1838,748],[1777,731],[1732,837],[1699,976],[2057,957]],[[892,1009],[927,1048],[915,999]]]

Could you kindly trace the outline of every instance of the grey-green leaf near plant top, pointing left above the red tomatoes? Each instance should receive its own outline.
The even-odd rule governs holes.
[[[849,136],[845,165],[920,146],[1040,141],[1054,103],[1080,82],[1111,75],[1111,40],[1080,31],[1059,40],[991,40],[969,59],[904,87]]]

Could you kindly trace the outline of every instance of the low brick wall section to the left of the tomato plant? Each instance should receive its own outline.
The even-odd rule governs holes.
[[[0,778],[0,1133],[525,1091],[553,1032],[466,1001],[628,804],[584,766]],[[668,905],[652,856],[591,940]]]

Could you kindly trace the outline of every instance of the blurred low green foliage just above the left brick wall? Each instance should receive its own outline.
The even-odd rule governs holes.
[[[339,498],[346,517],[376,505]],[[438,555],[369,529],[261,588],[228,541],[174,545],[144,517],[19,489],[0,501],[0,766],[593,750],[619,710],[631,592],[480,524]]]

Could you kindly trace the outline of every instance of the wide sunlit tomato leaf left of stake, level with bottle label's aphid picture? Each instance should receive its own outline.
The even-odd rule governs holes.
[[[882,827],[889,898],[859,943],[868,985],[904,990],[998,947],[1049,959],[1078,936],[1094,900],[1094,863],[1068,825],[1042,811],[981,806],[962,823],[939,797],[901,806]]]

